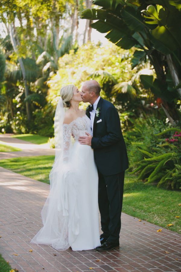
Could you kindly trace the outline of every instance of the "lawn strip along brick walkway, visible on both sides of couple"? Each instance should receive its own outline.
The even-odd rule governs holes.
[[[0,160],[0,166],[16,173],[49,183],[54,156],[21,157]],[[136,182],[134,175],[125,175],[122,211],[141,220],[181,233],[181,192]],[[176,218],[180,216],[180,218]],[[142,224],[142,222],[140,222]]]

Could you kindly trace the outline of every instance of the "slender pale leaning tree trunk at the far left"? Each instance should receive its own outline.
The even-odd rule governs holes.
[[[21,57],[19,57],[19,52],[17,50],[16,40],[14,39],[14,31],[13,31],[13,27],[12,27],[11,24],[9,24],[9,34],[10,34],[11,44],[13,46],[14,52],[18,56],[18,61],[20,63],[21,71],[22,71],[22,74],[23,74],[23,81],[24,81],[24,88],[25,88],[25,97],[27,97],[28,94],[29,94],[29,91],[28,91],[28,85],[27,85],[27,80],[26,80],[26,72],[25,72],[23,60],[22,60]],[[27,112],[28,121],[30,121],[31,114],[30,114],[30,104],[29,104],[29,102],[26,102],[26,112]]]

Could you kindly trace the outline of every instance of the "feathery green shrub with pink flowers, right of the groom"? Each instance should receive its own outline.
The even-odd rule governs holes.
[[[145,183],[181,189],[181,132],[153,116],[138,119],[127,132],[131,173]]]

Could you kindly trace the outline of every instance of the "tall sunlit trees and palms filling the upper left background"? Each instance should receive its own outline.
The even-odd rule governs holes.
[[[91,6],[91,2],[1,1],[1,34],[6,35],[0,37],[3,131],[35,133],[40,130],[43,134],[53,134],[53,112],[46,101],[46,81],[58,69],[59,57],[71,48],[76,50],[80,38],[78,16],[83,8]],[[91,28],[85,42],[90,34]],[[50,127],[45,129],[41,123],[34,126],[40,118]]]

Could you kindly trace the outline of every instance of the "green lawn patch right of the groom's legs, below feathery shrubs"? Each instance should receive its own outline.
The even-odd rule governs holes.
[[[179,203],[181,203],[181,191],[166,190],[152,184],[137,182],[134,175],[126,174],[123,212],[180,234],[181,206]],[[168,224],[173,226],[167,227]]]

